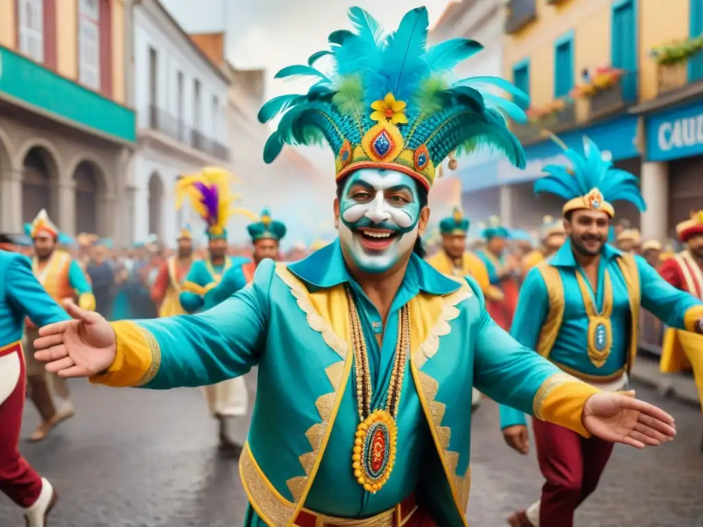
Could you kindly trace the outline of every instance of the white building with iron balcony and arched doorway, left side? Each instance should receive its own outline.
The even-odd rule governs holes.
[[[227,139],[230,79],[158,0],[134,5],[134,239],[150,233],[174,245],[191,221],[174,207],[179,176],[205,166],[231,169]]]

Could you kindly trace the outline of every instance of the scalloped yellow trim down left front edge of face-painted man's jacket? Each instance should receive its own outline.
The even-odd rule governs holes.
[[[297,300],[298,307],[305,313],[311,329],[319,332],[325,344],[330,346],[330,349],[342,359],[325,368],[325,374],[330,380],[332,391],[318,397],[315,401],[321,422],[313,424],[305,432],[312,448],[310,452],[304,453],[298,458],[305,475],[295,476],[285,482],[295,499],[295,511],[290,519],[292,522],[302,509],[315,479],[315,474],[317,474],[322,462],[337,412],[342,403],[344,389],[347,387],[347,379],[352,371],[354,355],[349,353],[352,336],[344,286],[338,285],[310,293],[304,284],[288,271],[285,263],[276,264],[276,275],[290,288],[291,294]]]

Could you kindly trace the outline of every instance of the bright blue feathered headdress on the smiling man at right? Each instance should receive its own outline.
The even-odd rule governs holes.
[[[644,212],[645,200],[640,194],[638,179],[629,172],[613,168],[612,162],[602,158],[598,146],[588,137],[583,137],[583,155],[568,148],[559,138],[550,137],[564,149],[572,167],[549,164],[542,170],[546,176],[534,183],[534,191],[555,194],[567,200],[562,213],[588,209],[615,216],[612,202],[628,201]]]

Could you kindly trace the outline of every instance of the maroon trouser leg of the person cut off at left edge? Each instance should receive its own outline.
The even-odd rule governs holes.
[[[0,357],[15,353],[20,378],[5,401],[0,401],[0,491],[20,507],[30,507],[41,493],[41,478],[20,455],[20,426],[25,405],[25,357],[20,344],[0,349]]]

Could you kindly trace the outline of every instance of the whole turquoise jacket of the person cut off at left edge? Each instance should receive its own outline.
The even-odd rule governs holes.
[[[41,327],[70,317],[32,273],[27,256],[0,251],[0,347],[19,344],[25,317]]]

